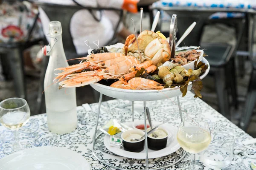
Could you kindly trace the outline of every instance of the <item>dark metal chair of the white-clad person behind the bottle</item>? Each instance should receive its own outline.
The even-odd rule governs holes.
[[[58,4],[51,4],[51,3],[39,3],[35,2],[36,5],[41,7],[44,12],[47,14],[49,17],[49,20],[57,20],[61,22],[62,26],[62,40],[63,40],[63,47],[64,47],[64,52],[67,58],[78,58],[78,57],[84,57],[87,54],[83,55],[78,55],[76,54],[76,48],[73,44],[73,38],[70,34],[70,21],[71,18],[73,17],[73,14],[75,14],[77,11],[81,9],[88,9],[88,10],[111,10],[111,11],[118,11],[120,13],[120,19],[119,22],[114,30],[114,35],[112,40],[108,42],[108,45],[112,44],[115,40],[116,37],[116,31],[121,23],[122,20],[122,15],[123,11],[121,9],[116,9],[116,8],[93,8],[93,7],[84,7],[84,6],[65,6],[65,5],[58,5]],[[58,10],[57,10],[58,9]],[[44,87],[44,76],[47,68],[47,63],[48,63],[48,57],[45,58],[46,61],[44,63],[46,66],[44,66],[42,69],[41,73],[41,78],[40,78],[40,87],[38,91],[38,113],[44,113],[45,112],[45,101],[44,101],[44,94],[41,92],[43,91]],[[69,64],[77,64],[77,61],[69,62]],[[93,88],[91,88],[94,94],[94,99],[97,101],[99,99],[99,92],[95,91]],[[107,98],[106,98],[107,99]]]

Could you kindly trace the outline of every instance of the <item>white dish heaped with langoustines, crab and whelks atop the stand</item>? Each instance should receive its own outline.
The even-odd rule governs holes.
[[[79,58],[79,64],[56,68],[62,72],[54,81],[60,89],[91,85],[104,95],[131,101],[185,96],[191,89],[195,97],[202,97],[201,79],[209,72],[203,50],[176,51],[171,56],[166,37],[148,30],[139,34],[137,43],[134,34],[128,36],[119,52],[108,48],[93,49],[92,54]]]

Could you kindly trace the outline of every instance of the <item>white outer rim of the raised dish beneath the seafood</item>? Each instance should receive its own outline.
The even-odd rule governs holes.
[[[207,70],[200,76],[201,79],[207,76],[210,70],[210,65],[207,59],[203,57],[202,62],[208,64]],[[130,100],[130,101],[154,101],[169,99],[181,95],[180,88],[164,88],[163,90],[131,90],[122,88],[112,88],[107,85],[102,85],[97,82],[90,84],[96,91],[106,96],[116,99]],[[189,82],[188,91],[192,88],[192,82]]]

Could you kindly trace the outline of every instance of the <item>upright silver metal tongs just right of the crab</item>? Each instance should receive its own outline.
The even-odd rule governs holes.
[[[170,24],[170,40],[169,40],[169,45],[171,47],[171,58],[174,58],[175,56],[176,32],[177,32],[177,15],[173,14],[171,24]]]

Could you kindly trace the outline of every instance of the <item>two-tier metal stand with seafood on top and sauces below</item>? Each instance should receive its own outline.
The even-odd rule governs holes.
[[[143,9],[141,9],[141,16],[142,11]],[[199,48],[176,51],[176,31],[177,15],[175,14],[171,20],[169,42],[160,31],[154,32],[154,29],[152,31],[140,29],[137,37],[134,25],[135,34],[129,35],[123,45],[118,43],[109,47],[98,47],[91,50],[88,56],[78,58],[80,61],[78,64],[55,69],[55,71],[61,71],[56,73],[54,79],[58,82],[59,89],[90,85],[100,92],[92,153],[103,164],[124,170],[122,167],[115,167],[105,162],[96,153],[99,151],[96,149],[96,141],[102,133],[105,133],[103,141],[109,151],[118,156],[145,159],[146,169],[149,169],[149,158],[174,153],[183,159],[186,155],[175,137],[177,128],[164,125],[166,122],[154,122],[157,126],[153,126],[150,113],[146,111],[146,101],[177,96],[182,120],[178,96],[180,94],[185,96],[187,91],[192,89],[195,92],[194,97],[202,97],[201,79],[207,76],[210,69],[209,62],[204,58],[207,55]],[[135,122],[126,122],[122,125],[118,121],[107,123],[99,129],[102,133],[97,135],[102,94],[116,99],[143,101],[144,123],[138,125],[134,125]],[[132,104],[134,121],[133,108]],[[149,128],[146,117],[148,117]],[[144,129],[141,129],[143,125]],[[168,167],[180,159],[154,169]]]

